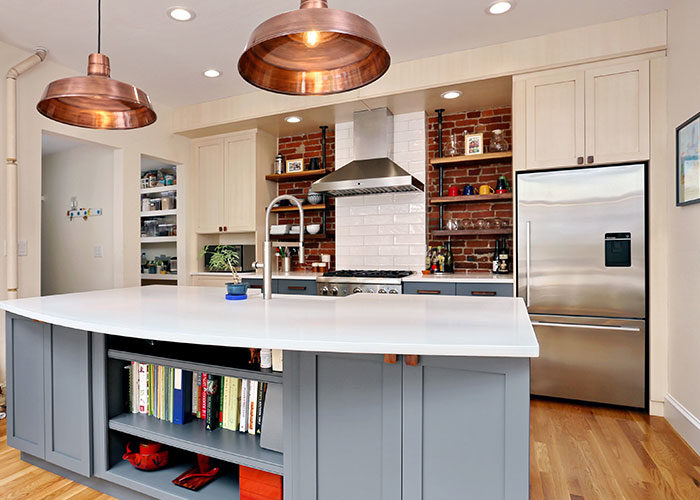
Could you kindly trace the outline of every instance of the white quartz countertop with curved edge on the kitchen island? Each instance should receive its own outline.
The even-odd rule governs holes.
[[[0,302],[56,325],[125,337],[293,351],[536,357],[522,299],[259,291],[227,301],[220,287],[153,285]]]

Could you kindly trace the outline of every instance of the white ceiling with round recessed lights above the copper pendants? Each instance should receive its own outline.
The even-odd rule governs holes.
[[[104,0],[102,51],[112,76],[171,106],[256,90],[236,64],[250,32],[297,0]],[[527,38],[665,9],[668,0],[516,0],[503,16],[489,16],[490,0],[329,0],[379,30],[392,62]],[[180,23],[169,7],[192,8]],[[0,40],[25,49],[44,46],[49,58],[83,74],[96,51],[96,0],[0,0]],[[220,78],[202,76],[218,68]]]

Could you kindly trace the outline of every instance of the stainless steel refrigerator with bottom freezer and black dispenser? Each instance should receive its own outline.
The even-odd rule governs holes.
[[[645,165],[517,176],[532,393],[646,406]]]

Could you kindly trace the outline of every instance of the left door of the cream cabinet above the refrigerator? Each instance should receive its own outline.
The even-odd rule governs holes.
[[[584,73],[527,81],[527,167],[571,166],[584,154]]]

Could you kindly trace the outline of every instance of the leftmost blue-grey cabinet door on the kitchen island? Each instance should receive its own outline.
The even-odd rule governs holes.
[[[44,458],[45,323],[7,315],[7,444]]]

